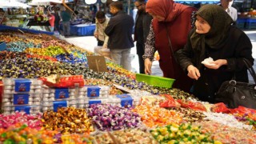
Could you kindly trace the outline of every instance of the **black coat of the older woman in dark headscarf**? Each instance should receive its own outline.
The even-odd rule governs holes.
[[[218,70],[208,69],[201,62],[198,62],[199,53],[192,49],[190,42],[190,36],[194,30],[190,31],[184,49],[175,53],[175,58],[183,70],[186,70],[190,65],[201,67],[199,70],[201,77],[194,81],[193,93],[195,96],[202,101],[214,102],[214,95],[222,85],[222,82],[231,80],[234,76],[239,82],[248,82],[246,65],[242,62],[242,58],[246,58],[252,63],[254,63],[254,58],[252,57],[250,38],[242,30],[231,26],[228,38],[226,38],[226,42],[222,47],[210,49],[209,46],[206,46],[205,58],[227,60],[227,66],[221,66]]]

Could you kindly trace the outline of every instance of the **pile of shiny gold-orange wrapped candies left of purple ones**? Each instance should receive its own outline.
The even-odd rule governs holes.
[[[42,117],[43,126],[46,130],[58,130],[62,134],[90,134],[90,132],[95,131],[84,109],[62,107],[58,108],[57,112],[46,111]]]

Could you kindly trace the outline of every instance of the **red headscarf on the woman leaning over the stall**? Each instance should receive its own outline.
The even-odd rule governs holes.
[[[146,2],[146,12],[165,18],[164,22],[174,21],[187,7],[189,6],[174,3],[173,0],[148,0]]]

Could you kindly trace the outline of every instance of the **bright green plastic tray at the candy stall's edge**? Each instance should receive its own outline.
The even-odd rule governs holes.
[[[136,80],[138,82],[145,82],[151,86],[171,88],[174,84],[175,79],[172,78],[163,78],[147,74],[136,74]]]

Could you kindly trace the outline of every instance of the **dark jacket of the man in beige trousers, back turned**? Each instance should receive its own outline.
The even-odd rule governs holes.
[[[134,47],[132,38],[134,18],[123,11],[118,11],[106,26],[105,34],[109,36],[109,49],[129,49]]]

